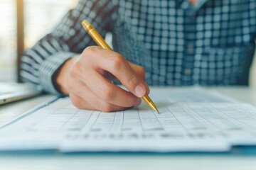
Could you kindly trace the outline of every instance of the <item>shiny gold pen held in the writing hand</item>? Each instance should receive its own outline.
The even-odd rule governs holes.
[[[107,42],[105,42],[105,40],[102,38],[102,36],[100,36],[100,33],[98,33],[97,30],[95,30],[95,28],[87,20],[82,21],[82,26],[83,26],[83,28],[85,28],[87,33],[89,33],[91,38],[93,40],[95,40],[97,45],[99,45],[100,47],[102,47],[106,50],[112,51],[112,48],[109,45],[107,45]],[[151,98],[149,98],[149,96],[147,94],[145,94],[142,98],[154,111],[159,113],[158,109],[156,108],[156,105],[151,100]]]

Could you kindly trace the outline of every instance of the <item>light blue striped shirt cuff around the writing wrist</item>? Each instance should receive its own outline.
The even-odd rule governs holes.
[[[62,95],[56,89],[55,84],[53,83],[53,77],[57,70],[64,64],[64,62],[69,60],[74,55],[76,54],[72,52],[58,52],[43,61],[39,68],[40,84],[43,88],[43,91],[46,91],[50,94]]]

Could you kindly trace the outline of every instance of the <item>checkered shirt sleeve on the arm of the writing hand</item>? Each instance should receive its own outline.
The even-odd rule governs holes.
[[[100,34],[112,29],[114,6],[107,0],[80,0],[49,33],[21,57],[21,79],[39,86],[43,91],[60,94],[53,81],[57,70],[85,47],[95,45],[81,26],[83,20],[92,23]]]

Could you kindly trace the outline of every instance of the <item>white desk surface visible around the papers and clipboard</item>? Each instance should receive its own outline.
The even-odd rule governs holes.
[[[174,87],[173,90],[181,89]],[[186,89],[184,87],[183,89]],[[256,106],[256,89],[206,88]],[[53,96],[41,96],[0,107],[0,120],[17,116]],[[6,116],[9,114],[10,116]],[[3,123],[3,121],[1,121]],[[256,169],[256,156],[161,154],[0,154],[0,169]]]

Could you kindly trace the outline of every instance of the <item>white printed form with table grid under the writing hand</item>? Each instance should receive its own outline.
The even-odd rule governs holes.
[[[103,113],[59,98],[0,130],[0,151],[226,152],[256,145],[256,108],[202,89],[151,90],[160,114],[142,104]],[[194,97],[196,96],[196,97]]]

